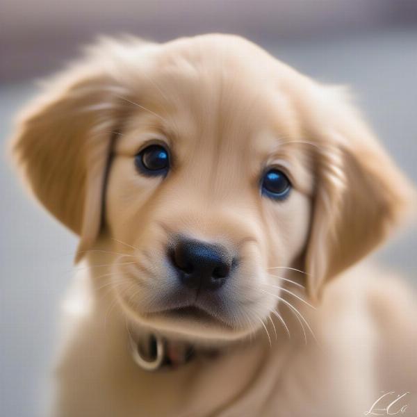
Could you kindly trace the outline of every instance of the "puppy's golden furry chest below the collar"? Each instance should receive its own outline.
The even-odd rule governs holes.
[[[196,360],[156,373],[141,370],[122,352],[113,359],[104,355],[101,363],[78,356],[67,361],[65,378],[60,379],[60,407],[90,417],[352,416],[338,409],[342,402],[348,404],[349,386],[332,385],[332,375],[309,368],[310,361],[290,358],[283,369],[284,358],[265,360],[259,353]]]

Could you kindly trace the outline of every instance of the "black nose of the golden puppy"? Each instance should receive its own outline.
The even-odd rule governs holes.
[[[179,278],[189,288],[220,288],[231,270],[231,256],[218,245],[181,239],[172,252]]]

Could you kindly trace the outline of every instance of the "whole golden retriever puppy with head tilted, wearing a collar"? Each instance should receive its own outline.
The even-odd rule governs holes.
[[[417,412],[416,302],[358,263],[413,190],[341,88],[233,35],[102,40],[13,149],[80,236],[54,416]]]

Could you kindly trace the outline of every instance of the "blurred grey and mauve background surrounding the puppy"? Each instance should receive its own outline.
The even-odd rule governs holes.
[[[417,183],[417,1],[2,0],[0,138],[38,88],[99,34],[165,41],[238,33],[298,70],[352,86],[379,138]],[[382,166],[383,170],[384,167]],[[0,416],[40,414],[76,238],[0,166]],[[417,286],[416,229],[375,254]],[[39,411],[39,412],[38,412]]]

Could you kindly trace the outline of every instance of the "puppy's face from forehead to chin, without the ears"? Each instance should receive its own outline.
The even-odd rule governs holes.
[[[304,249],[313,174],[291,143],[294,109],[270,74],[244,62],[219,67],[204,54],[158,70],[156,59],[119,130],[106,224],[136,263],[119,259],[114,279],[150,327],[251,332],[277,304],[275,275],[286,270],[271,268],[293,266]]]

